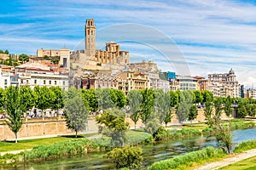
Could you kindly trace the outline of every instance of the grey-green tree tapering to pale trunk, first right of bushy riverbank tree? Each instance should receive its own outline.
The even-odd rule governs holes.
[[[136,130],[137,121],[140,117],[140,107],[143,100],[143,95],[139,90],[131,90],[128,93],[128,105],[130,106],[130,117],[134,122],[134,128]]]

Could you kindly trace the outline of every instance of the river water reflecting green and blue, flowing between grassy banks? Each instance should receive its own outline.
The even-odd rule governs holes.
[[[245,140],[256,139],[256,128],[236,130],[232,132],[234,146]],[[207,146],[217,146],[214,138],[197,137],[175,142],[160,141],[155,144],[143,145],[143,168],[146,169],[154,161],[160,161],[173,156],[183,155],[193,150],[201,150]],[[233,147],[234,147],[233,146]],[[113,169],[114,165],[104,157],[104,152],[90,153],[86,156],[72,156],[52,161],[29,162],[16,167],[4,169],[26,170],[69,170],[69,169]],[[1,168],[0,168],[1,169]]]

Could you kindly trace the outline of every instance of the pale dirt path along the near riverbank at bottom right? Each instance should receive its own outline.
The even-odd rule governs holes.
[[[249,157],[256,156],[256,149],[253,150],[247,150],[245,152],[242,152],[241,154],[238,154],[234,157],[226,158],[224,161],[215,161],[212,163],[209,163],[207,165],[204,165],[202,167],[197,168],[196,170],[213,170],[218,169],[220,167],[226,167],[230,164],[236,163],[237,161],[245,160]]]

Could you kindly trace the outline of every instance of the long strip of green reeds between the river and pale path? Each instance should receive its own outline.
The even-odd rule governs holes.
[[[203,150],[192,151],[183,156],[175,156],[171,159],[154,162],[153,165],[148,167],[148,170],[165,170],[173,169],[179,166],[188,165],[191,162],[199,162],[209,158],[224,157],[225,154],[221,149],[215,149],[209,146]]]

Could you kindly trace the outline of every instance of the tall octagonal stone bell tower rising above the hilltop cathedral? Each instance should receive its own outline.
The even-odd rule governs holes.
[[[96,53],[96,26],[93,19],[85,23],[85,54],[93,56]]]

